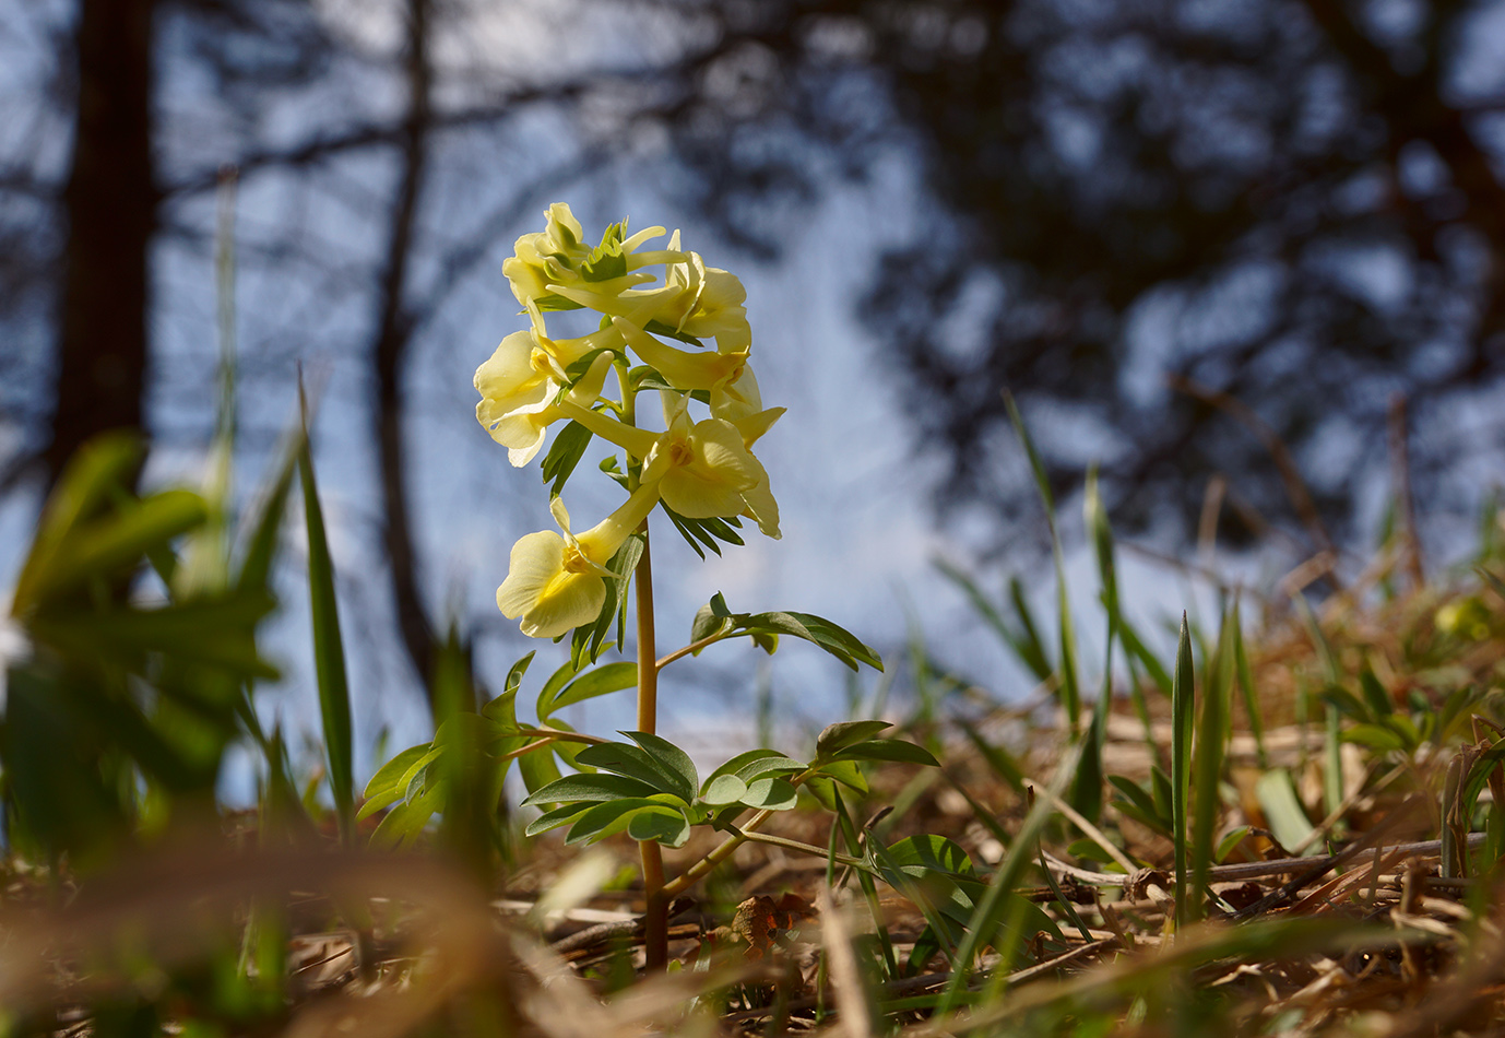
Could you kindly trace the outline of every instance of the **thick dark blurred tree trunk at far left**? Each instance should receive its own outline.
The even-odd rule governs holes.
[[[44,452],[51,484],[80,443],[141,426],[152,172],[152,14],[157,0],[81,0],[78,113],[63,193],[56,408]]]

